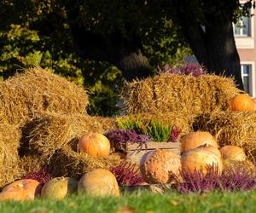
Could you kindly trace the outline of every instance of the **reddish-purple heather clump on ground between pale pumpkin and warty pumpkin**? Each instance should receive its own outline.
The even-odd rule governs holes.
[[[123,161],[121,164],[110,169],[121,186],[136,186],[143,182],[137,164]]]

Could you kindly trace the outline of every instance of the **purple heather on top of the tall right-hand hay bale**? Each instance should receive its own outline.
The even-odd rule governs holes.
[[[158,69],[158,73],[170,72],[172,74],[192,75],[195,77],[207,74],[206,68],[197,63],[186,63],[183,66],[177,66],[177,68],[174,68],[166,64],[162,69],[159,66],[157,69]]]

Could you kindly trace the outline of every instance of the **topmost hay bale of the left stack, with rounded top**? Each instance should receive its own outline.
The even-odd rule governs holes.
[[[84,113],[88,102],[82,87],[40,67],[0,83],[0,117],[9,124],[23,124],[40,111]]]

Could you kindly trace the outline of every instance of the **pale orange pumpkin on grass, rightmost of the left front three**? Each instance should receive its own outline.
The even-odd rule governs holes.
[[[119,197],[119,185],[115,176],[109,170],[92,170],[79,180],[79,192],[85,192],[92,196]]]

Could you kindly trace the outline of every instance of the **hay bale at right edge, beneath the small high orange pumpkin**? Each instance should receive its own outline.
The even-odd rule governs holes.
[[[207,113],[195,118],[194,130],[215,135],[218,145],[241,147],[250,158],[256,157],[256,112]]]

